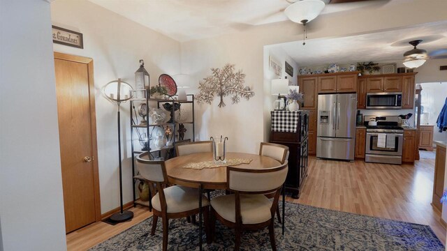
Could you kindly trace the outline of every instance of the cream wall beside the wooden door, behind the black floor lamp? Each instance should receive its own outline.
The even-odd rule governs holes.
[[[103,98],[101,88],[118,77],[135,86],[139,59],[145,61],[152,86],[158,84],[162,73],[179,73],[180,45],[86,0],[54,1],[51,16],[54,25],[77,30],[84,36],[83,50],[54,44],[54,51],[94,60],[101,212],[105,213],[119,206],[117,105]],[[132,200],[129,114],[129,104],[125,103],[121,109],[124,203]],[[136,142],[135,146],[140,145]]]

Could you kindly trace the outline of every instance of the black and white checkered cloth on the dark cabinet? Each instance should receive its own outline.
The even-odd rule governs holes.
[[[300,111],[272,111],[273,132],[297,132]]]

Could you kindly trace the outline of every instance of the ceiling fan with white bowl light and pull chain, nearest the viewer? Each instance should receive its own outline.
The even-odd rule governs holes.
[[[372,0],[286,0],[292,3],[284,10],[284,14],[292,22],[302,24],[304,26],[303,43],[307,38],[306,24],[314,20],[329,3],[351,3],[359,1],[372,1]]]

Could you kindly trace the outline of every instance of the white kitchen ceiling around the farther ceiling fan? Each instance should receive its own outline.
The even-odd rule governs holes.
[[[299,66],[321,66],[327,63],[387,62],[403,59],[404,52],[413,49],[409,41],[422,39],[419,49],[447,49],[447,22],[369,33],[343,38],[321,38],[273,45],[281,47]],[[446,55],[446,54],[444,54]]]

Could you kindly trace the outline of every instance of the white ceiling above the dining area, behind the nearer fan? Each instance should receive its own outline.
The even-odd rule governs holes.
[[[89,0],[180,42],[286,21],[286,0]],[[321,15],[380,8],[393,1],[327,4]]]

